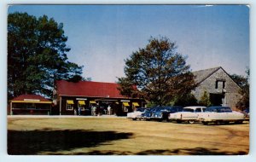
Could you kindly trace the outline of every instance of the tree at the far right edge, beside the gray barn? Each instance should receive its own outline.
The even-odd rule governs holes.
[[[239,91],[241,99],[236,104],[236,107],[239,107],[241,110],[244,110],[250,106],[250,69],[247,68],[246,73],[246,77],[236,74],[230,75],[230,77],[236,82],[236,84],[241,87],[241,90]]]

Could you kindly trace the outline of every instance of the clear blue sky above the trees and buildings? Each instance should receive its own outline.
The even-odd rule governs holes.
[[[13,5],[8,13],[46,14],[63,23],[69,61],[83,77],[116,82],[125,59],[150,37],[170,38],[191,71],[223,67],[246,75],[249,7],[246,5]]]

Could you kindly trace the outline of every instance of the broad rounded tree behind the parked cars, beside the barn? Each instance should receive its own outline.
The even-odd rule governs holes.
[[[143,97],[160,106],[195,88],[185,57],[177,53],[176,43],[164,37],[150,38],[145,48],[125,60],[125,77],[118,84],[122,95]]]

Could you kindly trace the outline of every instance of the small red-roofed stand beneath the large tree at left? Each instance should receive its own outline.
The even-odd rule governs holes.
[[[52,101],[41,95],[20,95],[10,101],[10,114],[49,115]]]

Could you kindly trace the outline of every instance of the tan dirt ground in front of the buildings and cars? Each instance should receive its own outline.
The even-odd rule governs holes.
[[[203,125],[125,118],[8,118],[9,154],[247,154],[249,123]]]

